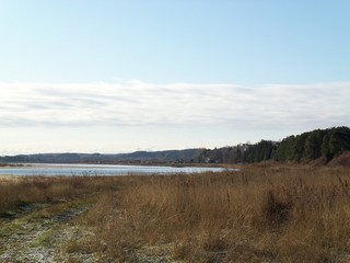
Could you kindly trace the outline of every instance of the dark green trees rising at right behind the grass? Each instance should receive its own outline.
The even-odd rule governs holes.
[[[330,161],[347,150],[350,150],[350,128],[341,126],[288,136],[281,141],[260,140],[257,144],[203,149],[198,156],[198,162],[246,163],[268,160],[308,162],[318,158]]]

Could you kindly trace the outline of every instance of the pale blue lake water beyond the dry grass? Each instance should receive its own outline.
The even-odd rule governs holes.
[[[0,174],[12,175],[128,175],[128,174],[176,174],[222,172],[225,168],[201,167],[147,167],[112,164],[48,164],[35,163],[24,167],[0,168]],[[234,169],[231,169],[234,170]]]

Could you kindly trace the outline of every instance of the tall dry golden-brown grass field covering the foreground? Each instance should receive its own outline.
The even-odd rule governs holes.
[[[295,164],[238,172],[0,181],[0,213],[83,199],[94,235],[68,252],[101,262],[350,262],[350,170]]]

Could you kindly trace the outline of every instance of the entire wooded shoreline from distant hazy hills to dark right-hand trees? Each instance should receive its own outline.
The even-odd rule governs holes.
[[[250,163],[261,161],[331,161],[350,150],[350,128],[315,129],[281,141],[260,140],[215,149],[136,151],[132,153],[39,153],[0,157],[0,162],[22,163]]]

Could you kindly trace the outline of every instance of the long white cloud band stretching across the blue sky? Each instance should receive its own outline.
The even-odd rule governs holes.
[[[0,127],[349,125],[350,83],[0,83]]]

